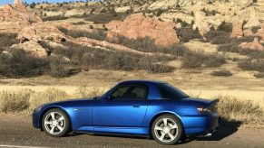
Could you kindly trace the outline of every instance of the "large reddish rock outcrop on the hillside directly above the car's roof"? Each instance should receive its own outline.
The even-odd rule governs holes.
[[[105,27],[109,30],[107,37],[111,40],[117,40],[118,36],[130,39],[150,37],[160,46],[180,42],[174,23],[161,22],[142,14],[132,14],[123,21],[112,21],[105,24]]]

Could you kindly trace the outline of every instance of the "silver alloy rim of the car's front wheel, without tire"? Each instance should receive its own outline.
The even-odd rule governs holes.
[[[44,118],[44,127],[50,134],[61,134],[65,128],[65,118],[59,112],[51,112]]]

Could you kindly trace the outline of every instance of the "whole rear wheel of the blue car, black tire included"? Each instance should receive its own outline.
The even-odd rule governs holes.
[[[157,117],[152,124],[152,136],[162,144],[175,144],[181,139],[181,121],[171,115]]]

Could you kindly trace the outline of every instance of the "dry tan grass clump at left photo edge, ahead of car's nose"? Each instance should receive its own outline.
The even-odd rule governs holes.
[[[20,112],[29,106],[31,91],[24,89],[21,91],[0,92],[0,112]]]

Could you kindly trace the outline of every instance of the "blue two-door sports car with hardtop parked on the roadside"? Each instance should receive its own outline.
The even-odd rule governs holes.
[[[168,83],[123,81],[101,97],[74,99],[34,109],[33,125],[46,134],[121,134],[177,143],[219,126],[218,100],[191,98]]]

